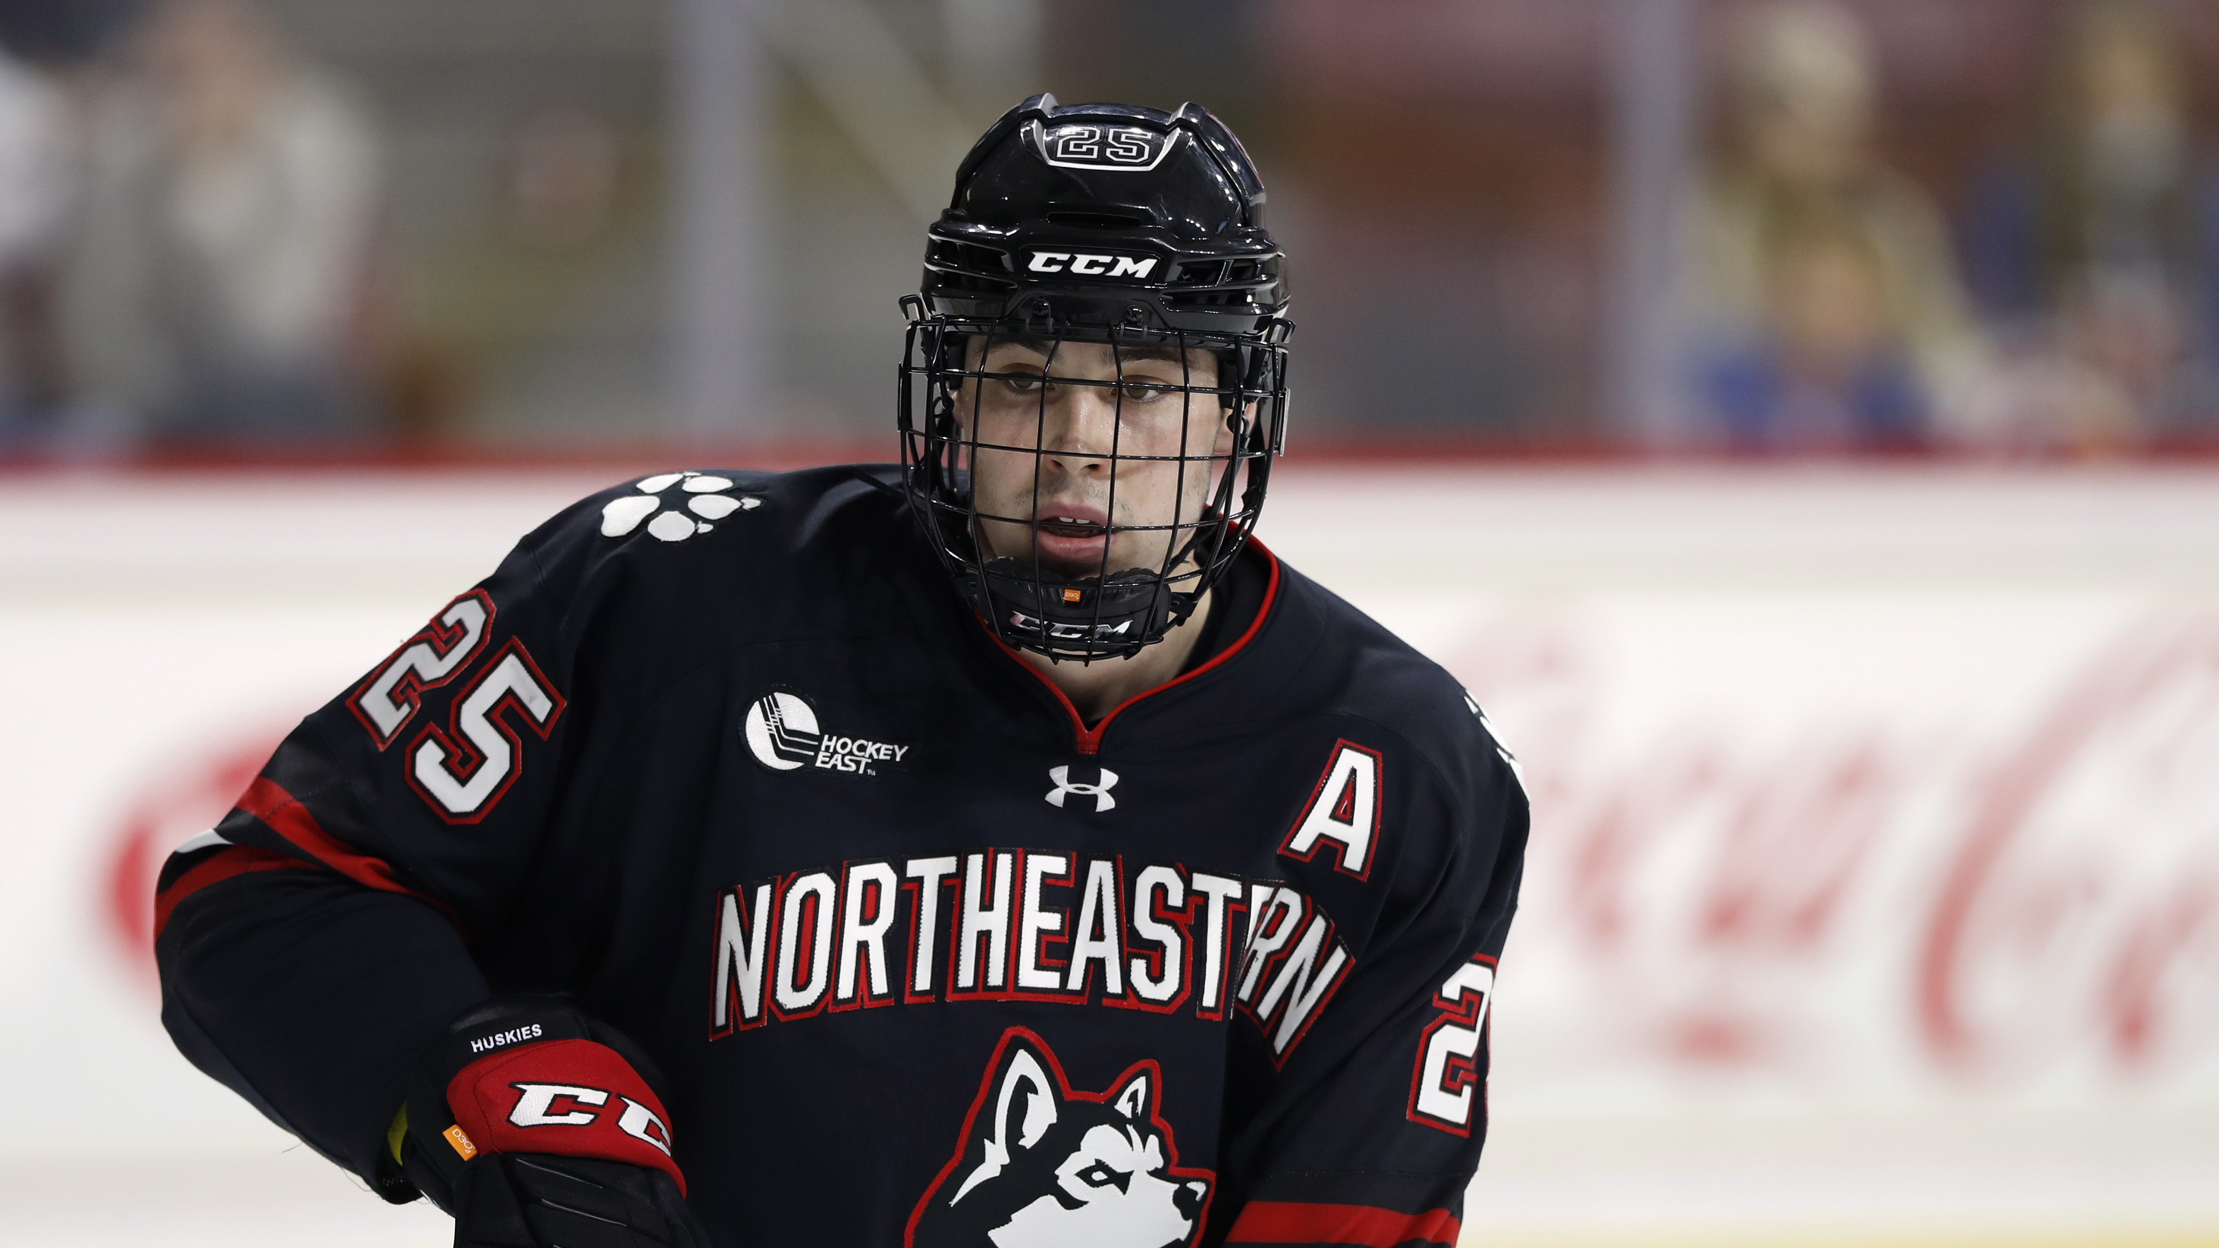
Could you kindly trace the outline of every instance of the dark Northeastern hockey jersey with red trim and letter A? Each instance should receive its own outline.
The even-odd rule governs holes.
[[[1453,1244],[1527,837],[1478,706],[1252,546],[1252,617],[1087,726],[892,482],[528,535],[171,857],[178,1046],[368,1177],[450,1017],[568,993],[734,1248],[956,1244],[979,1192],[1005,1248]]]

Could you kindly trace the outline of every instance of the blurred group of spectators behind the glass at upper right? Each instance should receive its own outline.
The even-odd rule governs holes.
[[[2183,31],[2093,0],[2044,33],[2017,142],[1931,187],[1882,140],[1855,11],[1737,16],[1686,264],[1724,440],[2101,453],[2219,429],[2219,167]]]

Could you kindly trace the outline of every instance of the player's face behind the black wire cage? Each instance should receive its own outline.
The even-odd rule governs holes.
[[[972,495],[987,560],[1070,577],[1163,571],[1203,515],[1234,433],[1207,351],[1107,342],[972,344],[959,420],[979,442]],[[1112,460],[1116,455],[1116,460]],[[1138,455],[1138,460],[1134,457]]]

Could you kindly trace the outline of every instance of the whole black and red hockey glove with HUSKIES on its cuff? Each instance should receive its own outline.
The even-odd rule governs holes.
[[[466,1010],[417,1061],[379,1195],[424,1192],[457,1248],[710,1248],[655,1064],[548,997]]]

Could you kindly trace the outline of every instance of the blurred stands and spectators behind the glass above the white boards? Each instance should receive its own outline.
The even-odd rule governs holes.
[[[761,44],[757,375],[683,424],[706,4]],[[1686,38],[1620,47],[1638,4]],[[2219,444],[2219,0],[0,0],[0,49],[4,457],[877,437],[930,169],[1038,89],[1256,151],[1296,449]],[[1644,56],[1686,124],[1635,420]]]

